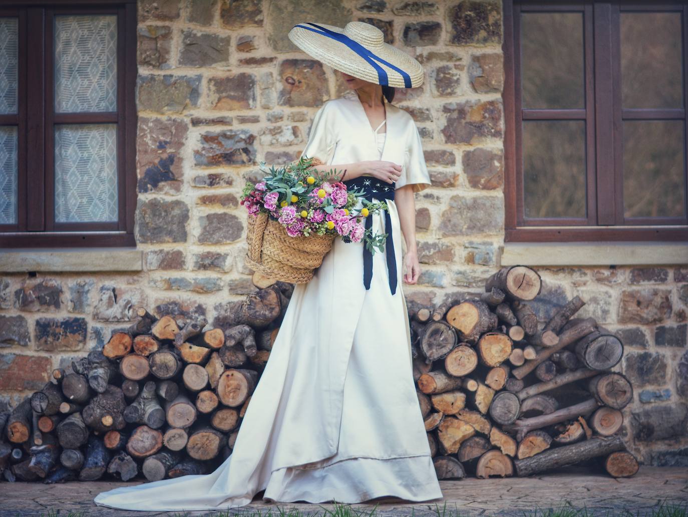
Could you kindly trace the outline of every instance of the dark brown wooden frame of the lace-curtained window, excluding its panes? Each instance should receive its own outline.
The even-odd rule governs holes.
[[[117,16],[117,112],[54,112],[52,19],[55,14]],[[18,217],[17,224],[0,225],[0,248],[136,246],[133,235],[136,209],[136,0],[10,1],[0,7],[0,16],[19,18],[19,113],[0,115],[0,125],[18,126]],[[28,34],[31,34],[30,38]],[[117,123],[117,222],[57,223],[54,215],[47,216],[54,214],[52,140],[54,124],[57,123]],[[28,202],[29,197],[34,198],[33,203]]]

